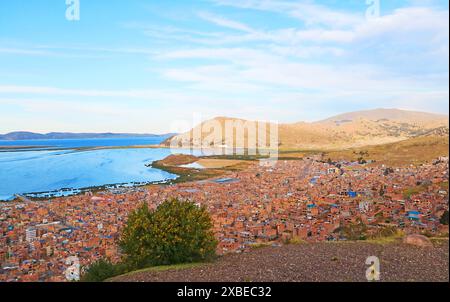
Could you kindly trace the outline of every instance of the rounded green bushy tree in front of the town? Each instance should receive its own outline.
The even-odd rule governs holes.
[[[205,207],[172,199],[150,211],[144,203],[129,215],[119,244],[135,268],[196,262],[215,255],[211,229]]]

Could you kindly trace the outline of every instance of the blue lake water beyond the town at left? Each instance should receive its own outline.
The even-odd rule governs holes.
[[[165,138],[40,140],[7,142],[10,146],[78,148],[159,144]],[[0,142],[0,146],[4,142]],[[177,153],[191,153],[177,150]],[[170,149],[100,149],[77,151],[28,150],[0,152],[0,200],[14,194],[52,192],[68,195],[73,189],[103,185],[148,183],[175,179],[176,175],[146,167],[171,154]],[[61,191],[61,189],[72,189]],[[76,191],[75,191],[76,192]]]

